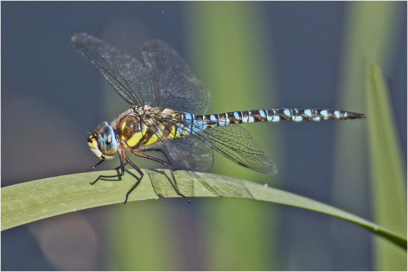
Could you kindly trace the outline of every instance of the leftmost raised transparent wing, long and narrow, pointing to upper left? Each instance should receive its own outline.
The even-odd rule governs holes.
[[[151,102],[149,73],[140,62],[86,33],[73,35],[71,42],[101,71],[126,102],[132,106]]]

